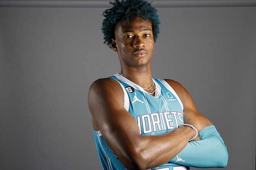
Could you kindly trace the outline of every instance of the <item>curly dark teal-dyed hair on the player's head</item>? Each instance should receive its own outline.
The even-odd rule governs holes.
[[[159,34],[160,20],[157,15],[156,8],[151,6],[151,3],[145,0],[115,0],[109,2],[113,5],[112,8],[105,10],[103,16],[105,19],[102,22],[102,32],[104,34],[104,43],[111,48],[111,39],[115,38],[115,26],[119,21],[126,21],[129,19],[139,17],[148,20],[152,24],[152,32],[154,35],[154,42],[156,42]]]

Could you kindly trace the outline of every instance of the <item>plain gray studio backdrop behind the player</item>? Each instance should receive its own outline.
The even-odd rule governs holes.
[[[0,8],[1,170],[102,169],[87,94],[120,71],[105,9]],[[215,124],[225,170],[254,170],[256,7],[157,9],[153,76],[180,82]]]

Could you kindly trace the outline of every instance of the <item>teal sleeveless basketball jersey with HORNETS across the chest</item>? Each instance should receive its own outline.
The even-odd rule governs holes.
[[[123,88],[124,107],[137,121],[141,135],[160,135],[183,124],[181,100],[165,80],[152,78],[156,92],[155,96],[151,96],[142,87],[120,74],[115,74],[110,78],[117,80]],[[103,169],[126,170],[113,154],[100,131],[94,131],[94,138]],[[160,167],[152,168],[154,169],[189,170],[189,167],[167,162]]]

